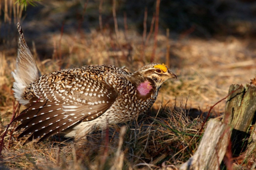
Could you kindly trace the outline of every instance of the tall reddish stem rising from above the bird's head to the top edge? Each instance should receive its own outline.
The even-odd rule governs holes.
[[[152,56],[150,62],[154,62],[155,60],[155,49],[157,45],[157,34],[158,34],[158,26],[159,26],[159,7],[160,7],[160,0],[156,0],[156,7],[155,7],[155,33],[154,33],[154,47],[152,51]]]

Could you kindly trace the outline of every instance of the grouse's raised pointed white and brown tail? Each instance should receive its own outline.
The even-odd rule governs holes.
[[[17,24],[17,29],[20,34],[20,38],[18,41],[16,70],[12,72],[15,80],[13,83],[13,90],[16,100],[18,100],[19,103],[26,105],[28,100],[24,100],[22,98],[24,90],[30,83],[37,80],[41,76],[41,73],[37,68],[37,64],[30,50],[28,49],[20,23]]]

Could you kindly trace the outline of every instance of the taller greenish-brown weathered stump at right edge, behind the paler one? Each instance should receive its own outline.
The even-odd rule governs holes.
[[[229,93],[232,94],[227,99],[223,122],[232,125],[234,128],[231,144],[233,155],[238,156],[246,150],[247,139],[250,136],[249,128],[255,124],[256,86],[253,84],[247,84],[245,87],[231,85]],[[251,137],[251,139],[254,138]]]

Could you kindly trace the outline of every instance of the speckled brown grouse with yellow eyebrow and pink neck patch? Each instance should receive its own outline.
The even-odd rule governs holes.
[[[61,134],[83,139],[110,124],[133,120],[154,104],[161,85],[177,76],[165,65],[151,63],[135,72],[113,65],[85,65],[41,75],[19,32],[13,93],[27,107],[15,121],[21,122],[18,139],[24,145]]]

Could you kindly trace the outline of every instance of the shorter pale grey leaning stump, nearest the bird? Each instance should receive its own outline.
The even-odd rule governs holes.
[[[230,125],[214,119],[209,120],[196,153],[179,170],[219,170],[231,132]]]

